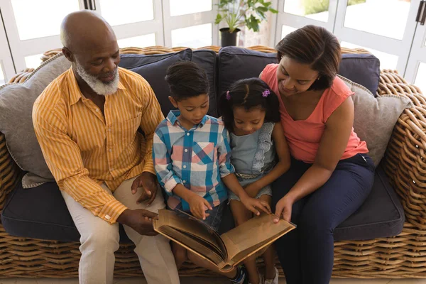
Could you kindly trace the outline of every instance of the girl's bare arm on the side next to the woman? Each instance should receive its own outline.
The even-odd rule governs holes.
[[[275,150],[277,151],[278,155],[278,163],[268,174],[245,187],[245,190],[250,197],[255,197],[259,190],[261,190],[263,187],[266,187],[266,185],[270,185],[290,168],[290,151],[288,150],[283,126],[281,126],[280,122],[276,123],[273,127],[272,139],[275,143]]]

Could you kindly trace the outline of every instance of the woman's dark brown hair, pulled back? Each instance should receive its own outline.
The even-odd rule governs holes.
[[[320,73],[309,89],[327,89],[339,71],[342,51],[336,36],[320,26],[308,25],[289,33],[275,46],[278,63],[283,56],[308,64]]]

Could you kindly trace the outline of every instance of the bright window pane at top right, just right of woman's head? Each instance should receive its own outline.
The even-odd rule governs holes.
[[[349,0],[349,4],[344,17],[346,28],[403,39],[410,0]]]

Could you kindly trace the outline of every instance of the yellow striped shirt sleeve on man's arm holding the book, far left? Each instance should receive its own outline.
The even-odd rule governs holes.
[[[33,124],[46,163],[60,189],[95,216],[110,224],[116,222],[126,207],[89,178],[80,148],[67,135],[65,116],[61,117],[60,108],[46,109],[36,102]]]

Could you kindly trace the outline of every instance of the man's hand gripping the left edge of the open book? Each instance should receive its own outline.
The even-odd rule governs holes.
[[[144,236],[155,236],[158,233],[154,231],[153,219],[158,219],[158,214],[145,209],[126,209],[117,218],[117,222],[131,227]]]

